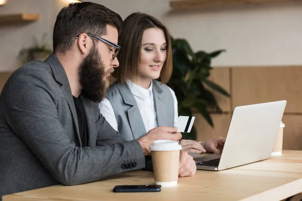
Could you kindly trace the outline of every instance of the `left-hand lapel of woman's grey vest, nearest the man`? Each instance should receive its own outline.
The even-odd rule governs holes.
[[[132,131],[133,139],[137,139],[146,134],[146,129],[144,127],[138,106],[136,104],[136,100],[127,84],[117,83],[117,88],[123,97],[124,103],[129,105],[130,107],[127,110],[128,121]]]

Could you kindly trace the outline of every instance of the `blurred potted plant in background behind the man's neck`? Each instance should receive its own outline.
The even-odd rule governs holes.
[[[23,63],[28,63],[33,60],[44,60],[52,52],[51,48],[45,44],[46,34],[44,33],[41,42],[33,36],[33,45],[28,48],[23,48],[19,52],[19,59]]]

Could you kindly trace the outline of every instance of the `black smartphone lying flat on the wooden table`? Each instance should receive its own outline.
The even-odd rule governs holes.
[[[116,185],[113,192],[159,192],[161,185]]]

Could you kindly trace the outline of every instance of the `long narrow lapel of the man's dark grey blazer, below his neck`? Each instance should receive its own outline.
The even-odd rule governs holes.
[[[66,72],[58,60],[58,58],[55,56],[54,53],[51,53],[49,57],[45,60],[46,63],[49,64],[51,67],[51,70],[53,72],[54,78],[57,82],[61,84],[61,89],[65,95],[65,98],[67,100],[71,116],[72,116],[72,121],[73,125],[75,127],[75,132],[77,133],[78,140],[80,142],[80,147],[82,147],[82,141],[80,137],[80,131],[79,131],[79,123],[78,123],[78,118],[77,118],[77,111],[75,111],[75,106],[73,102],[73,97],[70,89],[70,85],[68,82],[68,78],[66,75]]]

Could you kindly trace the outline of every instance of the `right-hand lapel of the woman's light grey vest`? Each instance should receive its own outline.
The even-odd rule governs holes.
[[[165,98],[163,94],[163,90],[158,85],[159,83],[153,81],[153,96],[154,96],[154,102],[155,102],[155,110],[157,114],[157,120],[159,126],[167,126],[167,114],[166,110],[164,110],[165,107]]]

